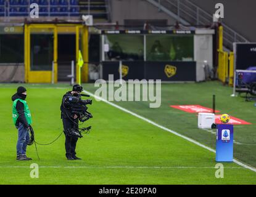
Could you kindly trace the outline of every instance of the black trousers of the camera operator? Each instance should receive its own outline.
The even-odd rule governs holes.
[[[73,119],[73,121],[75,123],[78,123],[78,120]],[[73,121],[71,121],[68,118],[64,118],[62,117],[62,123],[63,123],[63,127],[64,127],[64,133],[65,131],[67,131],[67,129],[74,129],[74,128],[78,128],[78,124],[73,123]],[[78,140],[78,137],[73,137],[73,136],[68,136],[65,133],[65,150],[66,150],[66,157],[72,157],[76,155],[75,152],[75,148],[76,148],[76,142]]]

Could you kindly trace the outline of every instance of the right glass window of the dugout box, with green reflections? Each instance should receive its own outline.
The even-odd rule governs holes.
[[[193,35],[147,35],[147,61],[192,61]]]

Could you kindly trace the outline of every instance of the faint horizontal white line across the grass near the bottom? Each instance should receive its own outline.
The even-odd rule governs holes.
[[[132,169],[216,169],[197,166],[38,166],[39,168],[132,168]],[[0,168],[30,168],[30,166],[0,166]],[[224,167],[225,169],[246,169],[244,167]]]

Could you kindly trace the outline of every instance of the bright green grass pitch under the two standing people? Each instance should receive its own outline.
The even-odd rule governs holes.
[[[64,135],[52,145],[28,147],[32,161],[16,161],[17,130],[11,118],[12,102],[18,84],[0,84],[0,184],[255,184],[256,172],[235,163],[223,163],[224,178],[215,177],[215,153],[170,132],[136,118],[104,102],[94,100],[89,111],[94,118],[85,126],[89,135],[78,140],[76,152],[81,161],[65,159]],[[28,90],[36,141],[48,143],[62,131],[60,102],[70,86],[25,84]],[[94,92],[93,84],[84,88]],[[183,91],[181,91],[181,89]],[[218,82],[162,84],[162,105],[150,109],[147,102],[118,102],[155,123],[215,148],[215,135],[197,129],[197,117],[169,105],[198,104],[211,107],[217,95],[217,110],[250,123],[256,122],[254,103],[231,98],[232,89]],[[207,94],[205,94],[207,92]],[[235,126],[234,156],[256,166],[255,124]],[[244,145],[243,145],[244,144]],[[30,164],[39,165],[39,178],[31,179]]]

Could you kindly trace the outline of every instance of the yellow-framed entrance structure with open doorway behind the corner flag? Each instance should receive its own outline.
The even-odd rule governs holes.
[[[58,34],[69,33],[75,34],[76,39],[76,83],[80,82],[80,77],[82,82],[88,81],[88,27],[81,24],[25,24],[24,27],[24,63],[25,63],[25,82],[29,83],[56,83],[58,81]],[[31,36],[48,36],[47,38],[53,38],[53,46],[49,47],[47,51],[49,60],[52,60],[52,63],[48,61],[47,68],[53,69],[41,69],[40,66],[35,66],[36,63],[33,62],[33,53],[36,49],[31,49],[33,45],[31,44]],[[51,45],[49,43],[44,43]],[[83,55],[83,60],[85,63],[81,68],[81,74],[78,72],[80,66],[78,66],[78,54],[81,50]],[[31,53],[33,52],[33,53]]]

